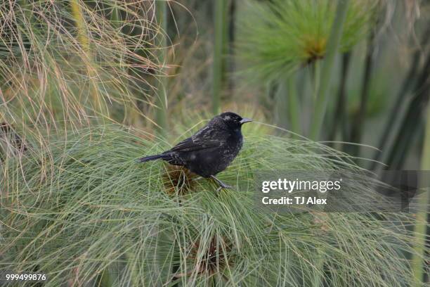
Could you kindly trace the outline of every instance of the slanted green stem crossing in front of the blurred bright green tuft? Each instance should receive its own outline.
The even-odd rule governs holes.
[[[318,98],[316,99],[313,121],[311,125],[311,139],[317,140],[320,136],[320,129],[323,125],[325,110],[327,109],[328,90],[330,87],[330,79],[332,77],[332,68],[334,65],[334,56],[339,48],[339,42],[344,27],[346,11],[349,0],[339,0],[337,3],[336,16],[332,25],[329,42],[327,44],[327,52],[323,68],[320,73],[321,80],[318,89]]]

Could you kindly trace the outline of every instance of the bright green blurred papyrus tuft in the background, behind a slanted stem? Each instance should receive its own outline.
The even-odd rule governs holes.
[[[330,0],[247,0],[238,49],[249,72],[264,79],[324,58],[336,5]],[[348,51],[370,29],[377,1],[351,1],[339,49]]]

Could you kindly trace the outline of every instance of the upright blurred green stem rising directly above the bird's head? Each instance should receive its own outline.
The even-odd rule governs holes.
[[[221,91],[223,90],[223,51],[225,51],[227,1],[217,0],[214,2],[214,63],[212,64],[212,112],[218,114],[221,110]]]

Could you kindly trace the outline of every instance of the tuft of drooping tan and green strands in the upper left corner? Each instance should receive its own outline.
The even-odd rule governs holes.
[[[143,117],[164,48],[150,11],[145,0],[1,1],[0,121]]]

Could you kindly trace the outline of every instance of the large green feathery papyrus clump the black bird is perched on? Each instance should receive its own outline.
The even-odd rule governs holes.
[[[394,224],[407,217],[280,215],[254,203],[261,170],[357,167],[309,141],[245,133],[240,156],[219,174],[235,190],[218,195],[206,179],[136,163],[168,146],[119,127],[51,135],[45,150],[29,144],[1,165],[0,269],[39,270],[46,286],[311,286],[322,274],[330,286],[408,283],[398,250],[410,238]],[[171,181],[176,192],[172,177],[186,177]]]

